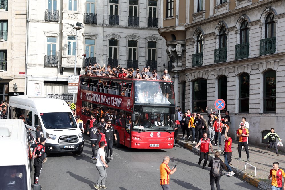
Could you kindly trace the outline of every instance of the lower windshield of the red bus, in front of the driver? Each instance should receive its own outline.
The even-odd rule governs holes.
[[[169,131],[174,130],[174,114],[170,107],[153,107],[153,106],[135,106],[135,122],[133,123],[134,131],[145,129]]]

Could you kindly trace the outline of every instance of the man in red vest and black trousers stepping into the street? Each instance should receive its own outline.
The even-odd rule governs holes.
[[[200,160],[199,160],[198,164],[200,165],[202,160],[205,159],[204,164],[203,164],[203,169],[206,169],[206,164],[207,164],[208,156],[209,156],[209,145],[210,145],[211,150],[214,154],[212,143],[211,143],[210,139],[207,138],[207,133],[205,133],[205,132],[203,133],[203,138],[200,139],[200,141],[195,146],[195,148],[197,148],[200,144],[201,144],[201,146],[200,146]]]

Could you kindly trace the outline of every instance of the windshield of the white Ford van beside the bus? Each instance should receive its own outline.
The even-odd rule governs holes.
[[[41,113],[42,122],[46,129],[76,128],[76,122],[70,112]]]

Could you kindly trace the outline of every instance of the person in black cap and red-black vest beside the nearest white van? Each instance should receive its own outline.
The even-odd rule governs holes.
[[[38,177],[40,176],[40,172],[42,171],[42,161],[44,160],[44,143],[46,141],[46,138],[41,137],[40,138],[40,144],[36,147],[36,153],[34,155],[34,167],[35,167],[35,173],[34,173],[34,184],[38,184]]]

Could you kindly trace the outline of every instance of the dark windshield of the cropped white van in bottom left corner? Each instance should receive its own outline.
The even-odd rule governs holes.
[[[0,166],[0,189],[27,190],[26,166]]]

